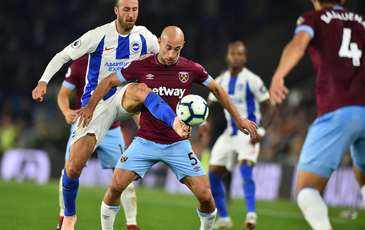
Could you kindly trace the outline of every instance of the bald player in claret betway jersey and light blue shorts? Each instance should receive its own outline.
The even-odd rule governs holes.
[[[184,34],[179,28],[166,27],[158,43],[160,44],[159,54],[142,61],[131,62],[129,66],[105,78],[96,87],[87,106],[78,111],[92,113],[108,88],[130,81],[130,78],[137,79],[153,90],[147,97],[158,98],[156,93],[161,94],[161,98],[166,100],[165,104],[170,108],[176,108],[180,98],[190,93],[192,83],[198,83],[218,98],[218,101],[230,112],[240,131],[250,134],[251,137],[255,136],[256,124],[239,115],[227,92],[212,80],[199,64],[180,57],[180,51],[185,42]],[[139,71],[136,73],[135,70]],[[181,73],[184,73],[186,77],[181,78]],[[158,76],[158,78],[151,81],[146,78],[149,75]],[[158,102],[158,104],[162,103]],[[145,104],[148,108],[150,103],[145,102]],[[110,186],[105,193],[101,205],[101,216],[106,215],[109,218],[101,219],[103,230],[113,228],[119,209],[117,205],[123,190],[133,180],[143,178],[146,171],[159,161],[166,164],[176,178],[193,192],[198,200],[197,213],[201,221],[200,229],[211,230],[216,217],[216,208],[204,168],[192,151],[190,142],[176,135],[164,122],[156,120],[147,108],[141,109],[141,128],[116,165]],[[88,115],[85,116],[85,119],[87,118]]]

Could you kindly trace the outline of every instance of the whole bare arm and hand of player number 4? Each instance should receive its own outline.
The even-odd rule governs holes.
[[[289,90],[284,85],[284,77],[288,75],[303,57],[311,39],[311,35],[308,32],[300,31],[285,46],[269,89],[271,104],[281,104],[289,93]]]

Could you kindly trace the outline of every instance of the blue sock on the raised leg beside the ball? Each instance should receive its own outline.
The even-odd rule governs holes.
[[[150,110],[151,114],[155,118],[164,121],[166,124],[174,128],[173,124],[176,114],[158,94],[155,94],[154,92],[147,94],[145,106],[148,110]]]

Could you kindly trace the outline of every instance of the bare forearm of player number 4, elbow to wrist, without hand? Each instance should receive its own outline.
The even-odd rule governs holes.
[[[285,46],[281,54],[279,65],[274,73],[273,78],[285,78],[288,73],[297,65],[305,53],[305,48],[297,45],[292,40]]]

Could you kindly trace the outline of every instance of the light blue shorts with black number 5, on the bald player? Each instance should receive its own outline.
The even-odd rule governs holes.
[[[143,178],[147,170],[159,161],[166,164],[180,182],[185,176],[207,175],[188,140],[173,144],[157,144],[141,137],[135,137],[115,168],[137,173],[138,180]]]

